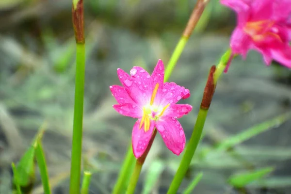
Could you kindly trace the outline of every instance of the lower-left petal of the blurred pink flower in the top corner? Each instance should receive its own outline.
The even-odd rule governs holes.
[[[248,50],[252,47],[252,39],[242,29],[237,27],[232,32],[230,47],[235,54],[241,54],[245,58]]]

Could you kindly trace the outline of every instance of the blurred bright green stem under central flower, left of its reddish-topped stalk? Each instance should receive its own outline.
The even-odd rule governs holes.
[[[128,179],[128,176],[132,172],[134,161],[135,161],[135,158],[133,156],[132,145],[130,142],[129,150],[122,164],[121,171],[118,175],[117,182],[113,189],[113,194],[120,194],[120,192],[125,191],[127,179]]]

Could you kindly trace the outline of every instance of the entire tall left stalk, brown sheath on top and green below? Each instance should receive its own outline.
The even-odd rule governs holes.
[[[70,194],[79,194],[81,179],[83,100],[85,82],[85,37],[83,0],[73,0],[72,20],[76,39],[76,77],[70,171]]]

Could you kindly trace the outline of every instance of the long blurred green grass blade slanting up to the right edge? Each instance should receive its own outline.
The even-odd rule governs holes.
[[[281,125],[287,119],[290,118],[290,115],[291,115],[290,113],[285,113],[285,114],[277,116],[271,120],[265,121],[257,126],[243,130],[241,133],[239,133],[235,136],[232,136],[232,137],[224,140],[223,142],[219,143],[216,146],[216,149],[217,150],[226,150],[230,147],[238,145],[238,144],[242,143],[243,141],[246,141],[246,140],[258,135],[261,132],[264,132],[268,129],[272,129],[278,125]]]

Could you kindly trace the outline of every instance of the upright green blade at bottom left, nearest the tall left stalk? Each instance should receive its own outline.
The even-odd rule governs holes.
[[[44,194],[50,194],[47,164],[46,164],[46,159],[45,159],[44,151],[42,148],[42,144],[40,141],[37,142],[37,145],[35,147],[35,157],[36,157],[37,165],[40,171],[41,182],[44,188]]]

